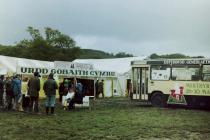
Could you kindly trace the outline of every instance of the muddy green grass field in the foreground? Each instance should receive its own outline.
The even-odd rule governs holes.
[[[127,99],[104,99],[96,101],[93,110],[64,111],[57,105],[56,114],[0,112],[0,139],[210,139],[209,111],[142,107]]]

